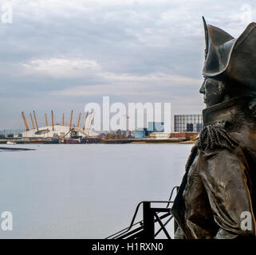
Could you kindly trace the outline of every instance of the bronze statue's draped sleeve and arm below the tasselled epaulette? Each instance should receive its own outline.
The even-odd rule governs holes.
[[[219,225],[215,238],[255,236],[246,165],[241,157],[226,149],[200,152],[199,169],[215,222]],[[244,215],[251,216],[248,230],[244,230]]]

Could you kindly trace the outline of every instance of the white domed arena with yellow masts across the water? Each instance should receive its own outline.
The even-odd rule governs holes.
[[[23,138],[64,138],[70,139],[73,137],[96,137],[99,135],[92,130],[95,112],[89,112],[85,115],[85,120],[80,127],[81,113],[77,121],[77,125],[73,124],[73,110],[70,115],[69,125],[64,124],[64,114],[62,115],[62,124],[54,124],[53,111],[51,112],[51,123],[48,124],[47,115],[45,113],[45,127],[38,127],[37,117],[33,111],[33,116],[30,113],[30,121],[33,128],[29,127],[24,112],[22,112],[22,119],[25,124],[26,131],[22,132]]]

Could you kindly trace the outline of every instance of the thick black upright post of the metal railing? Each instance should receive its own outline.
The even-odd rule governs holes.
[[[143,239],[153,240],[155,238],[155,219],[150,202],[143,202]]]

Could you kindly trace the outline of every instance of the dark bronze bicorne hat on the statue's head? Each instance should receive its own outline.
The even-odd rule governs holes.
[[[203,24],[206,41],[203,76],[229,80],[256,91],[256,23],[250,23],[237,39],[207,25],[204,18]]]

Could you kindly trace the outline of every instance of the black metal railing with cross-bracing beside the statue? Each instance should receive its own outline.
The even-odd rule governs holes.
[[[132,222],[124,230],[120,230],[113,233],[106,239],[140,239],[140,240],[152,240],[155,239],[158,234],[163,231],[167,239],[171,239],[170,233],[168,233],[166,226],[173,219],[171,214],[171,205],[174,202],[171,200],[174,191],[179,190],[179,186],[175,186],[171,190],[170,197],[167,201],[142,201],[136,206],[135,213],[132,217]],[[165,207],[155,207],[154,204],[166,204]],[[139,222],[135,222],[138,211],[142,206],[143,218]],[[160,228],[156,231],[156,223]],[[174,221],[175,224],[175,221]]]

